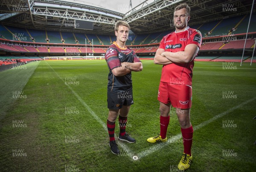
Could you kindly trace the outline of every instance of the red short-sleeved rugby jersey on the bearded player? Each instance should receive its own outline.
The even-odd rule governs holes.
[[[199,48],[202,41],[201,32],[186,27],[184,31],[172,32],[163,37],[159,49],[168,52],[184,51],[186,45],[196,44]],[[172,63],[163,65],[161,80],[171,84],[192,85],[192,71],[194,59],[189,63]]]

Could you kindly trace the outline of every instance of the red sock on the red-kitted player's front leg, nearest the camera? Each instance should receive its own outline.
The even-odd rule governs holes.
[[[183,146],[184,153],[191,155],[191,146],[192,146],[192,138],[193,138],[193,127],[189,127],[187,129],[181,129],[182,138],[183,138]]]

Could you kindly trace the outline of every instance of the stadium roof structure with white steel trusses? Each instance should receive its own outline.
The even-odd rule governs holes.
[[[250,14],[252,7],[252,0],[145,0],[123,14],[76,0],[1,0],[0,23],[31,29],[108,35],[113,34],[117,20],[125,20],[132,32],[146,34],[174,29],[173,11],[180,3],[187,3],[191,8],[190,26]],[[256,6],[253,12],[255,9]],[[76,21],[79,20],[91,22],[93,29],[77,29]]]

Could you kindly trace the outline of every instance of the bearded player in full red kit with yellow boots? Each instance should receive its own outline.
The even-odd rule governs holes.
[[[187,26],[190,8],[180,4],[174,11],[175,32],[167,34],[160,42],[154,63],[163,65],[158,100],[160,102],[160,135],[148,138],[150,143],[166,142],[170,120],[170,106],[176,108],[180,123],[184,151],[178,169],[185,170],[192,161],[193,127],[190,123],[192,105],[192,69],[194,58],[201,46],[201,32]]]

